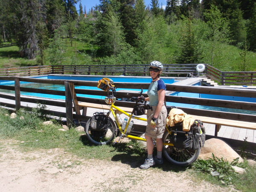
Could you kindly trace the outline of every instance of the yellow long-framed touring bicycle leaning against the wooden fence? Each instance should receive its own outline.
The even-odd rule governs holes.
[[[117,132],[119,132],[119,138],[129,138],[132,140],[139,140],[139,141],[146,141],[143,137],[134,136],[134,134],[131,134],[131,131],[129,129],[129,124],[133,119],[137,119],[143,122],[146,122],[147,119],[141,118],[139,116],[134,115],[134,111],[136,108],[145,108],[148,107],[148,104],[144,103],[141,105],[138,105],[139,101],[137,100],[135,102],[133,111],[131,113],[127,113],[126,111],[123,111],[116,105],[114,105],[116,98],[114,96],[116,87],[113,86],[113,84],[109,84],[107,82],[107,88],[103,89],[108,91],[108,96],[105,98],[105,102],[110,105],[109,111],[105,114],[102,112],[98,113],[99,118],[103,118],[98,122],[105,122],[104,125],[104,131],[95,131],[93,128],[93,117],[91,117],[86,124],[85,132],[87,138],[90,140],[91,143],[95,145],[106,145],[113,141],[113,139],[117,136]],[[98,85],[99,87],[99,85]],[[102,88],[102,87],[99,87]],[[142,92],[141,92],[142,93]],[[170,108],[167,110],[170,110]],[[118,113],[115,111],[118,111],[118,113],[123,113],[125,116],[127,116],[127,123],[124,126],[122,126],[121,123],[119,123],[119,117]],[[111,119],[110,114],[112,113],[115,122],[113,119]],[[98,119],[99,120],[99,119]],[[131,124],[130,124],[131,125]],[[100,125],[99,125],[100,126]],[[103,126],[103,125],[102,125]],[[133,125],[134,127],[136,125]],[[177,125],[180,126],[180,125]],[[181,125],[182,126],[182,125]],[[118,131],[119,130],[119,131]],[[200,145],[197,149],[192,148],[175,148],[172,141],[171,141],[171,134],[172,134],[172,128],[166,125],[166,130],[163,134],[163,155],[170,163],[178,165],[178,166],[188,166],[191,163],[193,163],[195,160],[197,160],[199,153],[200,153]]]

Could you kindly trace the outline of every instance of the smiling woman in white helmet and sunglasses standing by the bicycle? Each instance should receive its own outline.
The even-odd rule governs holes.
[[[141,169],[148,169],[154,166],[155,163],[163,164],[162,149],[163,149],[163,132],[166,125],[167,110],[164,105],[166,85],[160,74],[162,73],[163,65],[159,61],[152,61],[149,65],[149,73],[152,78],[148,88],[148,97],[145,101],[149,101],[152,110],[147,111],[148,125],[145,131],[145,139],[147,142],[148,157],[145,163],[140,166]],[[157,142],[157,156],[153,158],[154,143],[153,138]]]

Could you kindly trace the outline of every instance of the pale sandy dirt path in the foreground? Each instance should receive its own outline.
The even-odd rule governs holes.
[[[12,140],[0,141],[1,192],[212,192],[230,191],[189,179],[186,172],[103,160],[83,160],[63,150],[21,152]],[[168,179],[166,179],[168,178]]]

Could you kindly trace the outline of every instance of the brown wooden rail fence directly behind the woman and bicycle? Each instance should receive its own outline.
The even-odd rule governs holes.
[[[33,83],[44,83],[44,84],[62,84],[65,85],[70,83],[75,86],[97,86],[96,81],[75,81],[75,80],[55,80],[55,79],[38,79],[38,78],[27,78],[27,77],[0,77],[0,80],[5,81],[15,81],[15,86],[7,86],[0,85],[0,89],[3,90],[13,90],[15,91],[15,95],[9,95],[0,93],[0,98],[11,99],[15,101],[15,105],[0,102],[0,105],[16,108],[17,110],[20,108],[25,108],[26,106],[21,106],[20,102],[30,102],[30,103],[42,103],[45,105],[53,105],[57,107],[66,108],[66,113],[58,112],[58,111],[47,111],[47,113],[62,116],[62,117],[72,117],[72,119],[88,119],[89,117],[73,114],[72,111],[72,100],[70,101],[70,90],[65,86],[65,91],[61,90],[48,90],[48,89],[38,89],[38,88],[30,88],[30,87],[21,87],[20,81],[25,82],[33,82]],[[148,83],[115,83],[118,88],[131,88],[134,89],[148,89]],[[241,97],[252,97],[256,98],[256,90],[251,89],[235,89],[235,88],[221,88],[221,87],[206,87],[206,86],[180,86],[174,84],[166,84],[166,89],[168,91],[177,91],[177,92],[187,92],[187,93],[204,93],[204,94],[212,94],[212,95],[223,95],[223,96],[241,96]],[[66,96],[66,101],[52,101],[51,99],[47,100],[44,98],[26,98],[20,94],[20,91],[32,92],[32,93],[45,93],[51,95],[60,95]],[[84,95],[102,95],[106,96],[106,92],[102,90],[86,90],[75,88],[77,94]],[[139,96],[139,93],[134,93],[132,91],[118,91],[117,98],[130,98],[131,96]],[[144,95],[146,96],[146,95]],[[97,104],[105,104],[104,99],[95,99],[89,97],[81,97],[77,96],[78,102],[90,102]],[[238,102],[238,101],[228,101],[228,100],[219,100],[219,99],[204,99],[204,98],[191,98],[184,96],[166,96],[166,102],[177,102],[177,103],[185,103],[185,104],[193,104],[193,105],[205,105],[212,107],[221,107],[221,108],[230,108],[230,109],[241,109],[241,110],[250,110],[256,111],[256,103],[252,102]],[[124,102],[124,101],[116,101],[117,106],[122,107],[133,107],[133,102]],[[195,109],[195,108],[181,108],[188,114],[197,115],[197,116],[209,116],[215,118],[222,119],[233,119],[247,122],[256,122],[256,115],[254,114],[244,114],[244,113],[233,113],[233,112],[224,112],[224,111],[212,111],[206,109]]]

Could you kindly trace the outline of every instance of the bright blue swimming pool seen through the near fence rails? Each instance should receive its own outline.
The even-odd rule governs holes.
[[[99,81],[103,77],[105,77],[105,76],[48,75],[48,76],[35,76],[34,78],[37,78],[37,79],[66,79],[66,80],[81,80],[81,81]],[[149,82],[151,82],[151,77],[111,76],[110,78],[114,82],[137,82],[137,83],[149,83]],[[174,82],[177,82],[173,78],[162,78],[162,79],[166,84],[172,84]],[[0,84],[14,86],[14,81],[0,81]],[[200,83],[195,84],[195,86],[199,86],[199,85],[200,85]],[[64,85],[59,85],[59,84],[41,84],[41,83],[29,83],[29,82],[22,82],[21,81],[20,86],[21,87],[33,87],[33,88],[38,88],[38,89],[65,90]],[[89,90],[100,90],[97,87],[88,87],[88,86],[76,86],[76,88],[89,89]],[[123,89],[123,88],[119,89],[119,88],[117,88],[116,91],[118,91],[118,90],[140,91],[140,89]],[[143,92],[146,92],[146,91],[147,90],[143,90]],[[14,93],[14,91],[8,91],[8,92],[9,93]],[[29,95],[29,96],[39,96],[39,97],[45,97],[45,98],[52,98],[52,99],[65,99],[65,96],[49,95],[49,94],[42,94],[42,93],[21,92],[21,94]],[[172,93],[170,95],[185,96],[185,97],[192,97],[192,98],[221,99],[221,100],[228,100],[228,101],[256,102],[256,98],[237,97],[237,96],[236,97],[235,96],[218,96],[218,95],[209,95],[209,94],[201,94],[201,93],[175,92],[175,93]],[[77,94],[77,96],[85,96],[85,95]],[[105,98],[105,96],[95,96],[95,95],[86,95],[86,97],[97,98],[97,99],[104,99]],[[197,109],[207,109],[207,110],[215,110],[215,111],[229,111],[229,112],[236,112],[236,113],[256,114],[254,111],[236,110],[236,109],[229,109],[229,108],[219,108],[219,107],[192,105],[192,104],[183,104],[183,103],[167,102],[166,105],[176,106],[176,107],[184,107],[184,108],[197,108]]]

